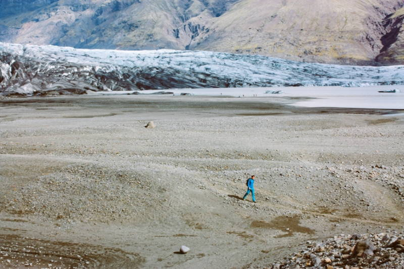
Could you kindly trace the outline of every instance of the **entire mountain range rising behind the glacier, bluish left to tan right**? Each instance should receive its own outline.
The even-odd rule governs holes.
[[[402,0],[0,0],[0,41],[402,64]]]

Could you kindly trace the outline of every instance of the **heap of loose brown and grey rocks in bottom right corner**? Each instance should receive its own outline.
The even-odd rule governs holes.
[[[338,235],[321,242],[307,241],[307,247],[285,257],[272,268],[404,268],[402,234]]]

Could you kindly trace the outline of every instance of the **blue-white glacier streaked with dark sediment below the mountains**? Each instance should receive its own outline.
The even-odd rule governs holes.
[[[403,85],[404,66],[341,66],[189,50],[76,49],[0,42],[0,92]]]

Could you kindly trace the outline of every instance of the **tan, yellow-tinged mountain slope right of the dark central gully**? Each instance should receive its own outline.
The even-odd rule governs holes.
[[[216,20],[195,48],[293,60],[368,64],[397,1],[246,0]],[[246,29],[247,28],[247,29]],[[223,30],[225,29],[225,30]],[[191,46],[192,47],[192,46]]]

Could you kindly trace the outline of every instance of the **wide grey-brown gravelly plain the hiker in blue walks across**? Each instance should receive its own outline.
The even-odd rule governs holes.
[[[404,107],[309,97],[1,100],[0,268],[263,268],[402,231]]]

